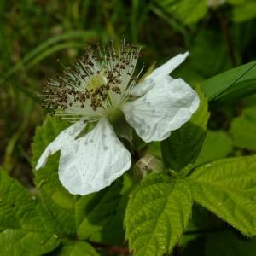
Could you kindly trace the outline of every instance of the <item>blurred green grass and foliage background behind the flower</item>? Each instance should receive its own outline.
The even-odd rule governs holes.
[[[84,45],[127,41],[143,46],[139,65],[160,65],[189,50],[173,74],[190,84],[256,59],[253,0],[20,0],[0,2],[0,162],[32,185],[31,143],[45,112],[45,79]],[[212,108],[201,162],[256,150],[255,97]],[[221,150],[220,150],[220,149]]]

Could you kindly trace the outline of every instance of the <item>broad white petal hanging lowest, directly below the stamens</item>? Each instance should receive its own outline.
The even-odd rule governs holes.
[[[59,177],[70,193],[87,195],[109,186],[130,166],[130,152],[102,119],[72,147],[61,149]]]

